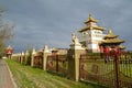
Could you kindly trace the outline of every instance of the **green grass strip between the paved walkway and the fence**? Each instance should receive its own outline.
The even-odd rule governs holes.
[[[94,84],[73,81],[11,59],[7,59],[7,63],[19,88],[103,88]]]

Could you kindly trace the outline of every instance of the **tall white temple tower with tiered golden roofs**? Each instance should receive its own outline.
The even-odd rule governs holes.
[[[88,20],[85,21],[86,26],[79,30],[79,42],[82,44],[82,46],[92,53],[100,52],[99,44],[102,42],[105,36],[105,29],[98,26],[97,23],[98,20],[89,14]]]

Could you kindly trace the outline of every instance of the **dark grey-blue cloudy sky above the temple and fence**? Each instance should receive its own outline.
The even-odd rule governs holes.
[[[72,33],[85,26],[89,13],[98,25],[112,29],[132,50],[132,0],[0,0],[3,19],[14,24],[10,44],[15,51],[30,46],[69,47]]]

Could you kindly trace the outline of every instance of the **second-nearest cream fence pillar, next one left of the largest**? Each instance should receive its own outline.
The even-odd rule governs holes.
[[[44,46],[44,51],[43,51],[43,70],[46,70],[46,62],[47,62],[47,56],[51,55],[51,51],[48,50],[48,46],[45,45]]]

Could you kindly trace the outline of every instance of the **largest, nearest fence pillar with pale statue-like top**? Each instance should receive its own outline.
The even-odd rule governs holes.
[[[86,51],[81,47],[77,36],[73,34],[73,41],[68,51],[68,77],[70,79],[79,80],[79,59],[80,55],[85,53]]]

